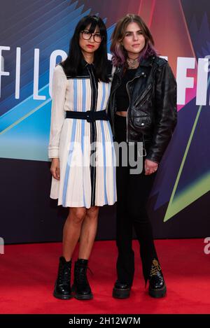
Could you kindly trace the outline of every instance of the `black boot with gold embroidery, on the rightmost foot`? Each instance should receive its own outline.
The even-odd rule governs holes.
[[[155,297],[157,299],[160,297],[165,297],[167,288],[158,259],[153,259],[153,265],[151,267],[151,273],[148,280],[148,292],[151,297]]]

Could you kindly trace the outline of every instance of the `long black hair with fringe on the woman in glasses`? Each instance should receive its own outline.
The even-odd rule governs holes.
[[[98,80],[108,83],[108,71],[107,71],[107,32],[106,26],[102,18],[95,15],[87,15],[83,17],[77,24],[74,34],[70,41],[69,55],[62,62],[64,71],[69,76],[77,76],[82,69],[83,53],[81,52],[79,45],[80,31],[83,31],[88,25],[90,25],[90,33],[94,33],[96,27],[99,28],[99,33],[102,36],[102,42],[99,48],[94,52],[94,71]]]

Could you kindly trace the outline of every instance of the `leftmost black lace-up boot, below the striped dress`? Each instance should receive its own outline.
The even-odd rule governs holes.
[[[66,262],[64,257],[59,258],[57,280],[53,296],[57,299],[71,299],[71,261]]]

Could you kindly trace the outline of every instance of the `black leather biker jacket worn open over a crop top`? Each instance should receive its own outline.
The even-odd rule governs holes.
[[[115,138],[116,90],[123,66],[116,68],[111,85],[108,115]],[[147,159],[160,162],[176,126],[176,80],[167,60],[148,57],[139,64],[127,83],[130,106],[127,109],[127,142],[143,141]]]

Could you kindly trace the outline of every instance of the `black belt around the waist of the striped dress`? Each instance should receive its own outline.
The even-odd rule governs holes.
[[[66,118],[76,118],[78,120],[87,120],[87,122],[94,122],[96,120],[109,120],[106,110],[87,110],[86,112],[74,112],[73,110],[66,110]]]

